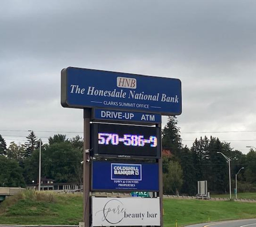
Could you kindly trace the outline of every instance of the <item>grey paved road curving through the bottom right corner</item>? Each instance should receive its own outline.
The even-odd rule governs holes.
[[[256,227],[256,219],[242,219],[223,222],[201,223],[196,225],[187,225],[186,227]]]

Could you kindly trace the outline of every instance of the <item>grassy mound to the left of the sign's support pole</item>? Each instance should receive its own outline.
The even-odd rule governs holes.
[[[66,224],[82,221],[82,195],[44,194],[23,196],[0,205],[0,224]],[[7,203],[7,205],[6,205]]]

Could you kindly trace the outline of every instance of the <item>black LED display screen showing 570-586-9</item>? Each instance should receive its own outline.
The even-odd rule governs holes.
[[[91,124],[94,155],[160,158],[160,127]]]

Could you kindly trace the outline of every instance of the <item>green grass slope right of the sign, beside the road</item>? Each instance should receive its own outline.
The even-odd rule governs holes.
[[[255,218],[256,204],[234,201],[164,200],[164,226],[184,226],[193,223],[239,218]]]

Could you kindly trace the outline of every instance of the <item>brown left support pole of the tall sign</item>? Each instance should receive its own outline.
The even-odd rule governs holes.
[[[90,154],[86,152],[90,149],[90,119],[91,109],[84,109],[84,171],[83,171],[83,194],[84,194],[84,223],[85,227],[90,227]],[[89,161],[88,161],[89,160]]]

